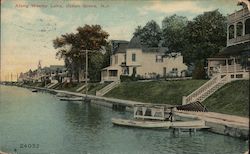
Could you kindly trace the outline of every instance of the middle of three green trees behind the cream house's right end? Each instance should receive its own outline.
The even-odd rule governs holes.
[[[163,19],[163,46],[168,47],[169,52],[183,52],[185,50],[187,41],[184,33],[187,22],[187,17],[177,16],[176,14]]]

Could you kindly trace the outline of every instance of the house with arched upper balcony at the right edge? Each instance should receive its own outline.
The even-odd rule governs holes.
[[[250,1],[239,0],[243,8],[227,17],[227,47],[214,58],[208,58],[208,75],[230,73],[247,76],[250,69]]]

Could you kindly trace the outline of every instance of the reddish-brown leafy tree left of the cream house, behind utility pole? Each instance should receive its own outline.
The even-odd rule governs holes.
[[[85,25],[84,27],[78,27],[77,33],[67,33],[57,37],[53,40],[53,45],[55,49],[58,49],[57,58],[64,59],[65,66],[70,70],[72,77],[79,81],[79,71],[84,70],[86,65],[86,50],[92,51],[89,54],[89,66],[99,66],[99,64],[102,64],[103,58],[100,58],[98,51],[107,45],[108,36],[109,34],[103,31],[100,25]],[[92,60],[92,58],[95,60]],[[97,73],[92,73],[92,71],[100,73],[101,68],[95,68],[96,70],[89,70],[90,79],[98,78],[95,76]]]

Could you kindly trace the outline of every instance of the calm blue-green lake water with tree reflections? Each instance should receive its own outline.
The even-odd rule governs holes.
[[[248,142],[206,131],[113,126],[131,113],[59,101],[48,93],[0,86],[0,150],[22,154],[239,154]],[[33,145],[34,144],[34,145]],[[25,147],[27,146],[27,147]]]

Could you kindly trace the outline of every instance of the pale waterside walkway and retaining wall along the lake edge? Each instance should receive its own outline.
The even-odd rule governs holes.
[[[67,95],[86,97],[86,94],[81,94],[77,92],[69,92],[63,90],[55,90],[55,89],[33,87],[26,85],[17,87],[42,90],[49,92],[51,94],[64,93]],[[127,112],[133,111],[132,107],[134,104],[149,104],[143,102],[122,100],[122,99],[108,98],[108,97],[101,97],[94,95],[87,95],[87,97],[90,98],[91,103],[93,104],[113,109],[122,109]],[[189,117],[189,118],[204,120],[206,126],[211,127],[211,129],[208,129],[208,131],[210,132],[236,137],[244,140],[249,140],[249,118],[215,113],[215,112],[192,112],[192,111],[181,111],[181,110],[177,110],[176,115],[180,117]]]

